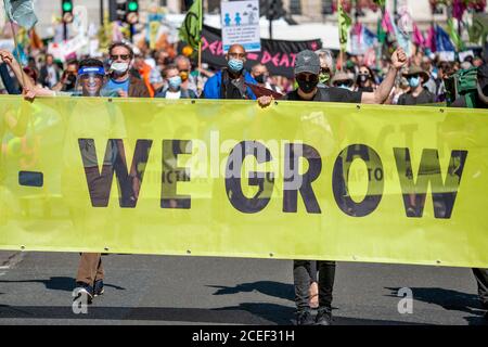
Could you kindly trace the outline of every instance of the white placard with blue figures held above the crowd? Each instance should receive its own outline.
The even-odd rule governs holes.
[[[223,52],[234,43],[244,46],[247,52],[259,52],[259,1],[222,1],[220,10]]]

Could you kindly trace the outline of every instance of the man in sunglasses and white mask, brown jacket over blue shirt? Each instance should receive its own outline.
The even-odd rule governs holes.
[[[133,51],[124,42],[115,42],[108,48],[110,55],[110,79],[104,86],[102,93],[116,92],[123,98],[150,98],[150,91],[144,81],[130,75],[133,64]]]

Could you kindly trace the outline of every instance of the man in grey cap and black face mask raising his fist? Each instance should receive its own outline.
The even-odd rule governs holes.
[[[312,51],[306,50],[297,54],[295,76],[298,89],[284,97],[292,101],[316,102],[349,102],[349,103],[383,103],[391,92],[398,72],[407,63],[407,55],[398,49],[391,55],[391,68],[383,83],[373,93],[352,92],[341,88],[318,88],[321,72],[320,59]],[[258,103],[261,107],[271,104],[271,97],[261,97]],[[285,202],[286,203],[286,202]],[[297,325],[330,325],[332,324],[332,293],[335,279],[334,261],[318,261],[319,268],[319,311],[313,320],[310,312],[311,261],[294,260],[293,277],[295,285],[296,324]]]

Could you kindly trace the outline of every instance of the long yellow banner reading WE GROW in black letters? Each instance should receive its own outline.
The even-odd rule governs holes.
[[[488,267],[488,112],[0,98],[0,249]]]

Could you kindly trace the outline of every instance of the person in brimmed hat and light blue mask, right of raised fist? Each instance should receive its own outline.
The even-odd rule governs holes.
[[[412,65],[403,76],[409,81],[410,91],[398,99],[398,105],[424,105],[435,102],[435,95],[424,87],[431,78],[426,72]]]

